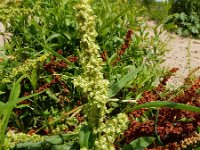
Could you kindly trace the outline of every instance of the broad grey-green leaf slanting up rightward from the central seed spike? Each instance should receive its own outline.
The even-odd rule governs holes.
[[[133,68],[135,68],[135,66]],[[142,68],[143,65],[136,68],[135,70],[131,70],[121,80],[119,80],[117,83],[114,83],[108,92],[108,97],[110,98],[115,96],[124,86],[128,84],[128,82],[133,80],[133,78],[137,75],[139,71],[142,70]]]

